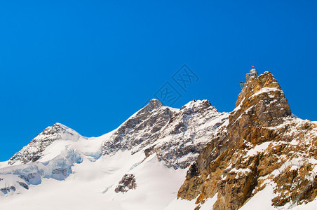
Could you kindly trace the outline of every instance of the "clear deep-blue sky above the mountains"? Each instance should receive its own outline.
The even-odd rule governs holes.
[[[317,120],[316,1],[0,1],[0,161],[62,123],[100,136],[163,85],[232,111],[254,64]],[[185,90],[173,75],[198,77]],[[194,80],[195,79],[195,80]],[[166,86],[163,86],[165,88]]]

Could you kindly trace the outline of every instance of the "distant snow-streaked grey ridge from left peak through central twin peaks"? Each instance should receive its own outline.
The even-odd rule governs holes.
[[[217,128],[226,124],[227,118],[227,113],[218,113],[207,100],[193,100],[182,109],[173,109],[152,99],[116,130],[102,137],[83,137],[71,128],[55,123],[13,155],[8,164],[48,161],[66,146],[72,146],[93,158],[125,150],[131,153],[143,151],[147,155],[158,153],[161,158],[164,156],[169,167],[187,167]]]

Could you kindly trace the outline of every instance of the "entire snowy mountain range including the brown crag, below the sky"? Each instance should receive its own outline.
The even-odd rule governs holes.
[[[269,72],[231,113],[152,99],[101,137],[43,130],[0,162],[0,209],[316,209],[316,133]]]

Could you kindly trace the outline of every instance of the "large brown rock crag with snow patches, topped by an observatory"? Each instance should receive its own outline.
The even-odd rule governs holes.
[[[217,193],[213,209],[238,209],[270,184],[274,206],[309,202],[317,195],[316,145],[316,124],[291,117],[280,85],[265,72],[248,80],[229,125],[191,165],[178,197],[199,205]]]

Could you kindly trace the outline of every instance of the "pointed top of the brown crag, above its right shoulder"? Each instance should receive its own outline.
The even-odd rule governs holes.
[[[229,124],[247,125],[247,121],[265,127],[274,126],[279,118],[290,116],[290,106],[276,78],[270,72],[252,77],[238,95]]]

